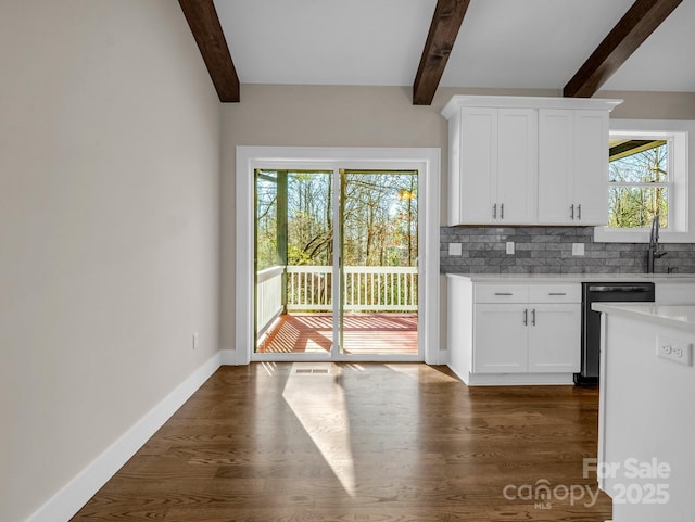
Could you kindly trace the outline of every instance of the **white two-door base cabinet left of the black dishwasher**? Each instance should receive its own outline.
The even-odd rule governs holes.
[[[579,283],[475,283],[448,276],[450,366],[467,384],[571,383]]]

